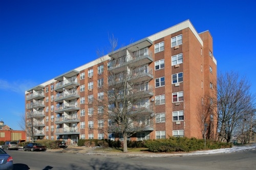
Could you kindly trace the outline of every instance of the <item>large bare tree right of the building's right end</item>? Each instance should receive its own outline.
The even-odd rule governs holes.
[[[217,88],[219,140],[229,142],[233,131],[250,114],[250,84],[245,77],[226,72],[218,75]]]

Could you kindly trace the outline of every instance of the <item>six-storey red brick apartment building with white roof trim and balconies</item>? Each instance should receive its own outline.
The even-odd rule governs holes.
[[[139,61],[137,68],[143,70],[139,81],[148,90],[142,100],[154,103],[155,116],[150,120],[152,127],[130,139],[202,138],[198,99],[208,95],[216,100],[217,61],[209,31],[197,33],[186,20],[27,90],[26,116],[33,117],[36,139],[71,143],[77,139],[116,139],[115,134],[102,130],[108,128],[108,123],[99,125],[97,110],[90,107],[90,100],[103,95],[100,87],[108,75],[102,72],[114,67],[121,71],[133,60]],[[216,116],[212,113],[206,119],[210,136],[215,136]]]

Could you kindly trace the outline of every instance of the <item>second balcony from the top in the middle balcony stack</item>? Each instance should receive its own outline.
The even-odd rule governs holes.
[[[71,101],[73,99],[78,99],[78,98],[80,98],[79,91],[72,89],[72,90],[68,90],[68,91],[65,90],[61,93],[57,93],[54,101],[62,103],[63,100]]]

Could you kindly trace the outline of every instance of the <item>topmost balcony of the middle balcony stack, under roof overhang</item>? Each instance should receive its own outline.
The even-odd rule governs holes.
[[[74,77],[71,77],[71,78],[69,78],[67,80],[63,80],[61,82],[58,82],[55,85],[54,90],[55,91],[64,91],[65,88],[71,89],[71,88],[75,88],[77,86],[79,86],[79,83],[77,82],[76,76],[74,76]]]

